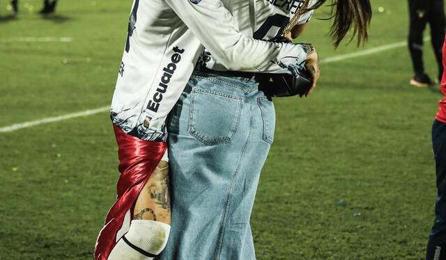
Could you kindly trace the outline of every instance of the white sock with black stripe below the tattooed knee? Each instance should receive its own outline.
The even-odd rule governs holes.
[[[151,260],[167,244],[170,226],[153,220],[132,220],[130,229],[115,245],[108,260]]]

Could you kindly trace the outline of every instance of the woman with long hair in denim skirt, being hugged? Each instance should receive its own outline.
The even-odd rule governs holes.
[[[311,1],[309,6],[317,8],[323,2]],[[243,0],[229,1],[228,8],[238,17],[242,33],[262,40],[286,35],[284,28],[296,10],[305,9],[302,1],[277,0],[254,1],[253,6]],[[255,10],[254,17],[246,15],[250,10]],[[302,14],[289,36],[297,37],[311,15]],[[360,40],[367,38],[369,1],[336,1],[334,17],[335,44],[351,27]],[[305,50],[307,62],[295,70],[305,66],[317,81],[318,63],[309,58],[315,55],[314,48],[308,44]],[[282,61],[286,58],[272,60],[277,64]],[[172,221],[160,260],[256,259],[249,218],[260,171],[273,141],[275,111],[271,99],[259,91],[258,71],[238,70],[227,68],[213,50],[206,49],[171,111]]]

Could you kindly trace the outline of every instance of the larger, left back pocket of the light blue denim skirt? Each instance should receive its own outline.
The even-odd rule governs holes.
[[[240,124],[243,99],[213,90],[192,89],[189,133],[205,145],[230,142]]]

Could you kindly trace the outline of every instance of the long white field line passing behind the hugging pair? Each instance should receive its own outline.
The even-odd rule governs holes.
[[[424,40],[429,40],[429,38],[424,38]],[[324,60],[321,60],[321,63],[334,63],[336,61],[347,60],[349,58],[356,58],[356,57],[365,56],[365,55],[369,55],[369,54],[376,54],[378,52],[387,51],[390,49],[397,49],[397,48],[404,47],[404,46],[407,46],[406,41],[405,42],[396,42],[396,43],[387,44],[387,45],[383,45],[383,46],[376,47],[376,48],[367,49],[365,51],[356,51],[356,52],[353,52],[352,54],[344,54],[344,55],[339,55],[339,56],[333,56],[331,58],[325,58]],[[50,122],[68,120],[68,119],[75,118],[75,117],[94,115],[97,113],[109,111],[109,109],[110,109],[109,106],[102,106],[100,108],[95,108],[92,110],[87,110],[87,111],[82,111],[82,112],[77,112],[77,113],[71,113],[68,115],[60,115],[57,117],[47,117],[47,118],[43,118],[41,120],[23,122],[21,124],[12,124],[8,127],[0,127],[0,133],[7,133],[7,132],[19,130],[19,129],[24,129],[27,127],[33,127],[38,124],[47,124]]]

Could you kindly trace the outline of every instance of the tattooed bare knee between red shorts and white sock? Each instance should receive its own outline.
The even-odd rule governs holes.
[[[134,205],[134,220],[155,220],[170,225],[169,163],[160,161]]]

